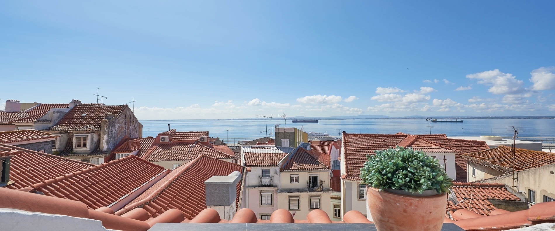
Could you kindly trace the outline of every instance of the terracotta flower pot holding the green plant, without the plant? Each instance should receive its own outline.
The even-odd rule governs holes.
[[[379,231],[440,231],[447,208],[446,194],[405,196],[367,187],[366,201]]]

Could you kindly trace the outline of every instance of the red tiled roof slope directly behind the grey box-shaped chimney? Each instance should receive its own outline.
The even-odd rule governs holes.
[[[193,219],[206,209],[204,182],[210,177],[227,176],[234,171],[244,174],[243,166],[200,155],[185,165],[175,168],[168,176],[160,179],[116,214],[124,214],[141,207],[155,218],[175,208],[185,215],[185,219]],[[239,198],[240,194],[241,182],[237,184],[236,198]]]

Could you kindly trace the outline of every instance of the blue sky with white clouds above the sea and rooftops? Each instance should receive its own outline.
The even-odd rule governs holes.
[[[553,1],[4,1],[7,99],[139,119],[555,115]]]

